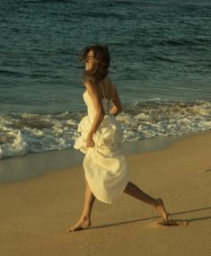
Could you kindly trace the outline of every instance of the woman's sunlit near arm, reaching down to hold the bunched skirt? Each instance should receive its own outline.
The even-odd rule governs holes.
[[[101,121],[105,114],[101,104],[101,95],[99,92],[99,88],[97,88],[95,85],[93,85],[90,82],[86,82],[85,86],[86,86],[87,92],[92,98],[92,102],[96,111],[96,114],[92,122],[92,127],[90,128],[88,135],[86,137],[86,146],[94,146],[94,142],[92,139],[93,134],[97,131],[97,129],[101,125]]]

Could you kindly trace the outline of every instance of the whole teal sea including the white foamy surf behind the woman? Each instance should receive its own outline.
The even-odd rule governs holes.
[[[0,0],[0,158],[73,146],[80,50],[110,48],[124,139],[211,128],[211,1]]]

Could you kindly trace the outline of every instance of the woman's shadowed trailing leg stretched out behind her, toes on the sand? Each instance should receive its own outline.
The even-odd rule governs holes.
[[[127,187],[124,190],[124,192],[133,198],[142,200],[145,203],[153,206],[158,211],[158,213],[163,217],[163,220],[168,220],[168,214],[165,210],[162,199],[154,199],[154,198],[150,197],[149,195],[145,194],[144,191],[140,190],[134,183],[132,183],[130,181],[127,183]]]

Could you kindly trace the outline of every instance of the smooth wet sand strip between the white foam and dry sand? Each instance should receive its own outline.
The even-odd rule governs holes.
[[[202,131],[200,133],[204,133]],[[153,152],[171,146],[183,137],[155,137],[136,142],[123,144],[125,155]],[[25,181],[40,176],[46,172],[57,172],[57,170],[80,166],[83,164],[84,154],[74,148],[62,151],[48,151],[30,153],[6,157],[0,160],[0,184],[6,182]],[[33,166],[31,170],[31,165]],[[31,170],[31,171],[29,171]]]

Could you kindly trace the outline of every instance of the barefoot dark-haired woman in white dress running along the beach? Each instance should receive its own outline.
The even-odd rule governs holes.
[[[153,206],[164,221],[168,214],[162,199],[154,199],[128,181],[128,169],[121,152],[121,128],[115,116],[122,110],[119,94],[108,72],[110,53],[105,45],[94,44],[83,50],[83,74],[86,91],[84,102],[88,115],[81,120],[75,148],[84,154],[85,196],[84,209],[78,222],[68,231],[77,231],[91,225],[92,206],[95,198],[113,203],[125,192]]]

